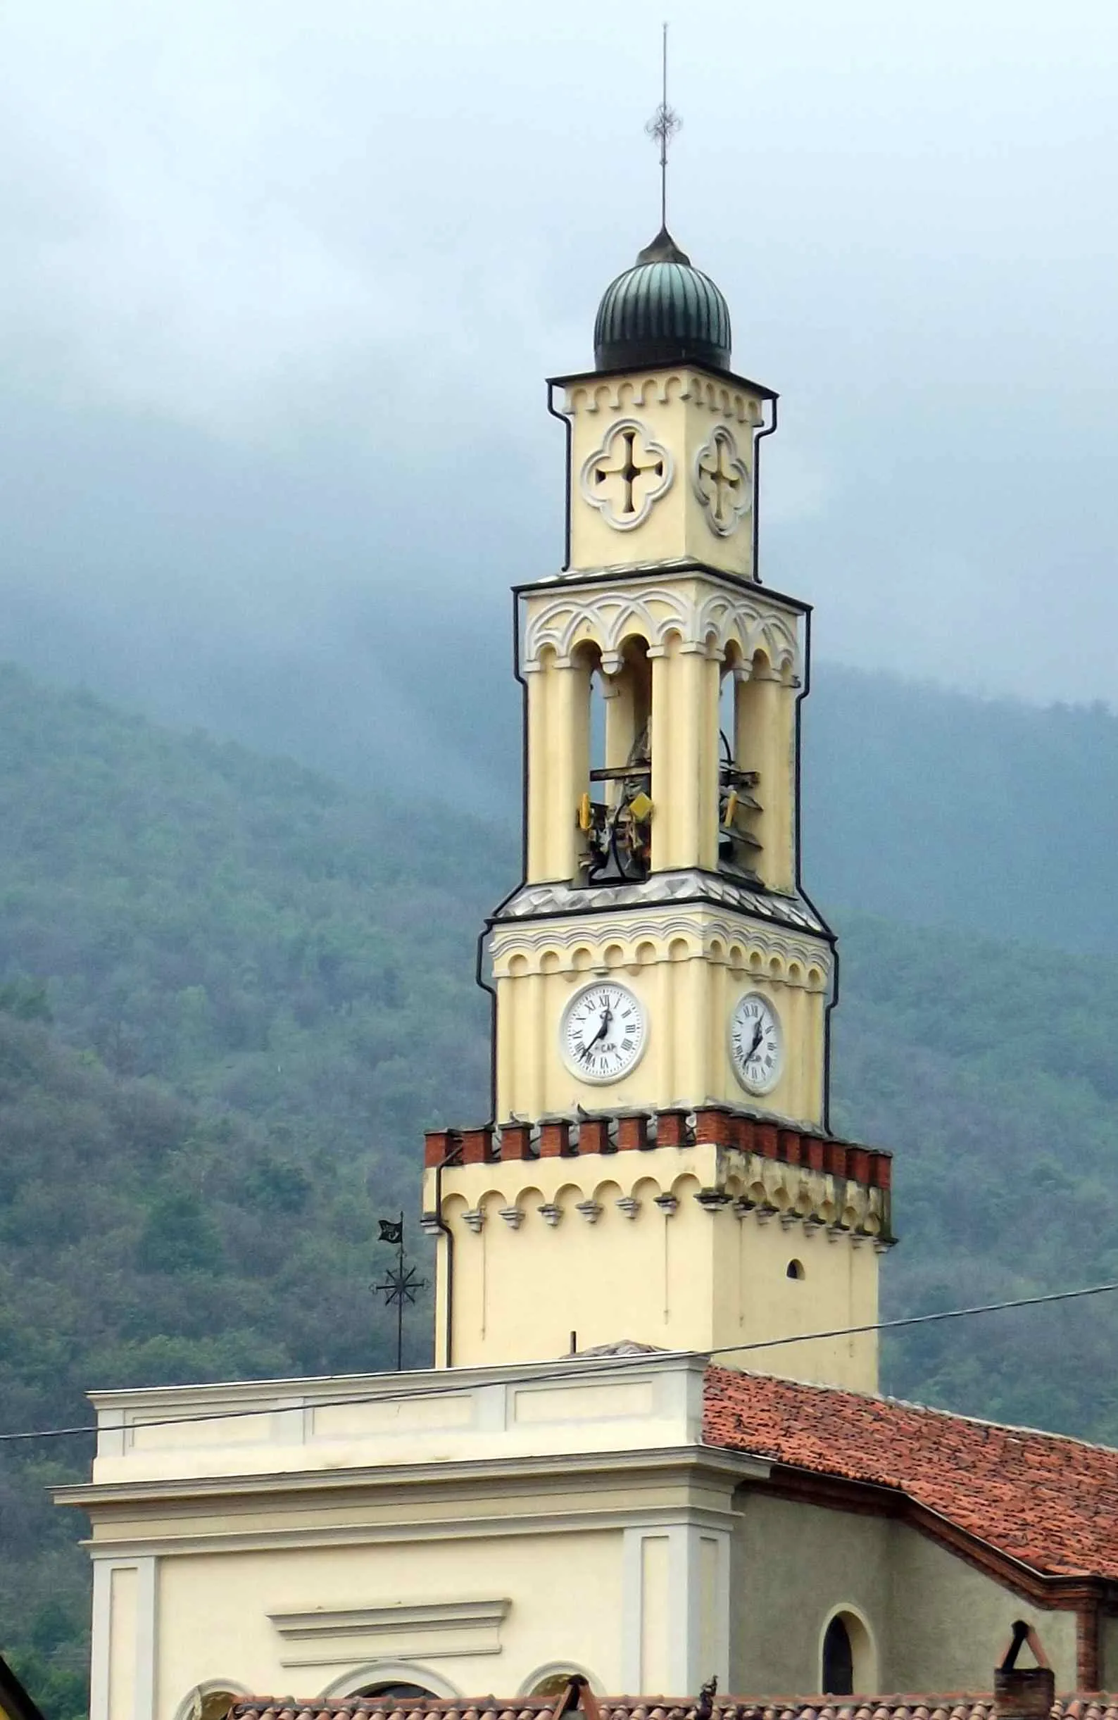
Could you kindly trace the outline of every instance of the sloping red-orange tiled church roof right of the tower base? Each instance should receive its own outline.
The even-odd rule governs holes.
[[[703,1438],[896,1490],[1042,1576],[1118,1581],[1118,1452],[1108,1447],[728,1367],[707,1369]]]

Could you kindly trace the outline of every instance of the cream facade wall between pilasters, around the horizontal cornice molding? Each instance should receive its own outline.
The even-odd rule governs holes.
[[[325,1527],[325,1526],[323,1526]],[[578,1572],[578,1581],[571,1574]],[[468,1629],[423,1617],[423,1603],[509,1601],[497,1627]],[[394,1625],[361,1610],[409,1603]],[[339,1612],[332,1634],[284,1641],[273,1615]],[[346,1613],[358,1615],[349,1631]],[[418,1615],[418,1620],[416,1617]],[[249,1691],[318,1696],[351,1691],[406,1663],[416,1682],[456,1692],[514,1692],[547,1663],[569,1658],[593,1668],[600,1687],[621,1680],[621,1536],[394,1539],[284,1551],[203,1553],[163,1558],[157,1720],[174,1720],[189,1689],[227,1679]],[[115,1717],[114,1717],[115,1720]]]

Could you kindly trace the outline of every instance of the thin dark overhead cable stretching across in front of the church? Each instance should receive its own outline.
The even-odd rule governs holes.
[[[929,1326],[932,1321],[941,1319],[970,1319],[974,1314],[1003,1314],[1006,1309],[1013,1307],[1044,1307],[1053,1302],[1078,1302],[1089,1295],[1108,1295],[1118,1290],[1116,1283],[1104,1285],[1085,1285],[1082,1290],[1053,1290],[1047,1295],[1022,1295],[1011,1297],[1004,1302],[979,1302],[974,1307],[948,1307],[939,1309],[934,1314],[901,1314],[898,1319],[877,1319],[865,1326],[836,1326],[832,1331],[800,1331],[789,1333],[784,1338],[759,1338],[752,1343],[722,1343],[714,1350],[655,1350],[654,1357],[674,1355],[679,1361],[686,1357],[702,1355],[741,1355],[746,1350],[772,1350],[784,1343],[815,1343],[827,1338],[855,1338],[870,1331],[896,1331],[901,1326]],[[547,1373],[509,1373],[506,1376],[509,1385],[538,1385],[540,1381],[549,1383],[554,1379],[569,1379],[571,1367],[578,1367],[583,1378],[600,1373],[612,1373],[617,1366],[647,1364],[650,1355],[568,1355],[559,1366],[549,1369]],[[451,1369],[452,1373],[452,1369]],[[251,1381],[248,1381],[251,1385]],[[287,1381],[284,1381],[287,1383]],[[157,1388],[158,1390],[158,1388]],[[174,1390],[174,1388],[172,1388]],[[193,1390],[205,1391],[206,1386],[194,1386]],[[212,1390],[220,1391],[222,1386],[213,1386]],[[196,1421],[241,1421],[244,1416],[294,1416],[303,1409],[346,1409],[351,1404],[402,1404],[406,1398],[413,1397],[451,1397],[464,1391],[464,1385],[445,1385],[445,1386],[423,1386],[411,1388],[406,1391],[368,1391],[361,1395],[339,1397],[339,1398],[318,1398],[315,1404],[258,1404],[253,1409],[213,1409],[203,1410],[194,1416],[160,1416],[148,1417],[143,1421],[126,1426],[139,1428],[182,1428]],[[76,1440],[89,1436],[95,1433],[112,1433],[114,1424],[101,1426],[83,1426],[83,1428],[38,1428],[29,1433],[0,1433],[0,1445],[14,1445],[19,1440]]]

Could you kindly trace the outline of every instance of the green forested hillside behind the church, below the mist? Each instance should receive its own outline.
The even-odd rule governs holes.
[[[473,941],[511,831],[14,669],[0,724],[0,1431],[81,1422],[89,1386],[390,1364],[375,1218],[415,1218],[423,1127],[485,1113]],[[943,853],[994,898],[989,851]],[[1113,963],[827,906],[836,1121],[898,1156],[886,1312],[1118,1276]],[[936,1326],[891,1343],[888,1385],[1118,1441],[1116,1338],[1108,1302]],[[41,1490],[86,1462],[0,1447],[0,1646],[52,1720],[81,1706],[86,1558]]]

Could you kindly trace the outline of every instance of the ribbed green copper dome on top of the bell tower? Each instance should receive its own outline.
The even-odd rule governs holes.
[[[605,287],[593,322],[599,370],[690,359],[729,370],[729,310],[709,275],[691,267],[667,227],[633,268]]]

